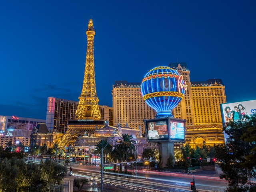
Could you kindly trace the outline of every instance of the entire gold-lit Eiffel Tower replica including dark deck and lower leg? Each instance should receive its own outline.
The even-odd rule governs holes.
[[[84,70],[84,82],[82,93],[76,114],[73,119],[68,120],[68,130],[58,143],[60,149],[64,149],[68,144],[74,142],[76,138],[86,132],[94,133],[97,127],[104,125],[98,106],[99,99],[96,94],[95,72],[94,72],[94,35],[92,19],[89,20],[87,35],[87,51]]]

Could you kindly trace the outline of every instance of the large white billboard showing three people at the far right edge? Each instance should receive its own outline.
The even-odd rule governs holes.
[[[256,114],[256,100],[224,103],[220,106],[223,126],[230,120],[247,121],[251,115]]]

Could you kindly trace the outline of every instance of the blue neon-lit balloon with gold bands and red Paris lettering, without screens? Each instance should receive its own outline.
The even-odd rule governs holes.
[[[144,76],[141,88],[143,99],[156,110],[157,117],[173,117],[172,109],[182,100],[187,85],[176,70],[160,66]]]

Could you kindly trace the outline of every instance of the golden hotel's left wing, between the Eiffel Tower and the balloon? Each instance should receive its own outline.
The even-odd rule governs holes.
[[[144,118],[152,119],[156,111],[141,96],[141,82],[129,83],[116,81],[112,89],[113,98],[113,124],[125,126],[126,123],[134,129],[140,126],[145,131]]]

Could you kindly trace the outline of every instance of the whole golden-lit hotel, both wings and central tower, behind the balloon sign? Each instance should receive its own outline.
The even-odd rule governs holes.
[[[175,118],[186,119],[186,142],[192,147],[224,143],[220,104],[226,103],[225,86],[221,79],[191,82],[186,63],[170,63],[169,67],[183,76],[188,85],[184,98],[172,110]],[[152,119],[156,112],[147,106],[140,93],[141,83],[116,81],[113,85],[113,122],[122,126],[126,122],[132,128],[140,125],[145,131],[143,119]],[[154,145],[154,146],[152,146]],[[156,147],[149,143],[148,147]],[[180,144],[174,145],[174,152]]]

